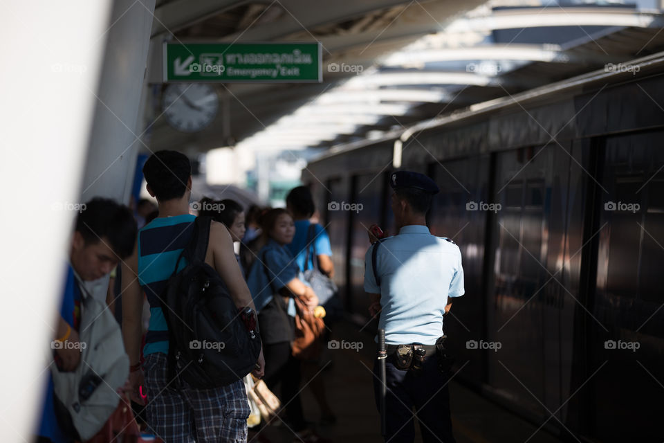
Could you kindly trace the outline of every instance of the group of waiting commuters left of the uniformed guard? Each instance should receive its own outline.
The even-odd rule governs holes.
[[[196,235],[192,229],[196,216],[212,219],[205,263],[219,274],[237,308],[257,313],[262,350],[251,374],[254,380],[262,378],[285,405],[277,411],[279,420],[270,424],[282,422],[297,441],[326,441],[305,420],[299,398],[304,377],[311,381],[308,384],[322,411],[320,423],[334,424],[324,377],[313,377],[320,370],[320,351],[309,353],[306,359],[291,352],[295,299],[302,300],[311,314],[321,309],[302,271],[316,266],[324,275],[333,275],[327,233],[319,224],[309,229],[309,218],[315,211],[311,193],[304,187],[293,189],[287,209],[250,206],[245,210],[237,201],[209,198],[192,205],[190,162],[173,151],[151,156],[143,174],[156,206],[141,199],[132,213],[115,201],[94,199],[77,217],[61,317],[53,337],[57,372],[49,376],[37,442],[102,442],[110,433],[120,437],[131,432],[136,433],[131,437],[137,442],[143,441],[141,438],[151,441],[152,437],[167,443],[247,440],[250,404],[242,377],[226,386],[199,388],[169,372],[169,316],[165,309],[170,307],[164,294],[169,278],[183,269],[178,257]],[[98,293],[89,293],[86,288],[97,288]],[[118,354],[129,356],[124,382],[113,386],[117,398],[107,398],[106,410],[90,413],[93,419],[87,418],[98,422],[89,428],[100,428],[92,439],[78,426],[75,412],[67,410],[53,386],[59,383],[60,372],[81,372],[78,377],[83,379],[76,381],[78,386],[90,372],[80,370],[87,354],[74,345],[80,340],[81,315],[86,315],[81,307],[86,305],[86,296],[82,294],[105,303],[121,330]],[[316,311],[318,317],[323,315],[320,313]],[[323,338],[318,336],[317,340]],[[100,379],[105,383],[105,374]],[[126,419],[128,405],[136,416],[132,426],[128,425],[133,418]],[[120,429],[118,410],[123,408],[124,429]]]

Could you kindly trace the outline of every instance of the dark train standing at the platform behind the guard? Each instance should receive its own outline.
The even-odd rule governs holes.
[[[664,53],[625,66],[339,145],[302,172],[345,311],[373,330],[367,228],[396,233],[389,174],[438,183],[427,225],[465,272],[443,324],[454,379],[565,441],[664,440]]]

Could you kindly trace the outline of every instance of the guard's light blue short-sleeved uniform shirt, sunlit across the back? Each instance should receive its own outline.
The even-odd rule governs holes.
[[[404,226],[380,244],[374,278],[369,247],[365,256],[365,291],[380,293],[380,320],[385,343],[434,345],[443,335],[448,298],[463,296],[459,246],[431,235],[421,225]]]

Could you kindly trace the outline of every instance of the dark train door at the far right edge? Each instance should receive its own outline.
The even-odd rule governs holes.
[[[606,362],[589,383],[597,405],[593,433],[602,441],[661,440],[653,424],[661,419],[654,405],[664,380],[663,137],[647,132],[606,141],[593,315],[608,332],[595,327],[589,341],[591,368]],[[616,388],[616,380],[626,386]]]

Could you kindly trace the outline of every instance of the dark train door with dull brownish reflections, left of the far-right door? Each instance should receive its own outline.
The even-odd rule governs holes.
[[[546,415],[567,398],[575,293],[564,273],[569,183],[582,174],[571,167],[571,146],[548,146],[496,154],[495,292],[488,300],[488,384],[519,406]],[[577,268],[578,270],[578,268]],[[578,276],[573,279],[578,282]],[[567,334],[569,335],[569,334]],[[541,402],[541,403],[540,403]],[[542,407],[542,404],[545,407]],[[561,408],[557,416],[564,418]]]

